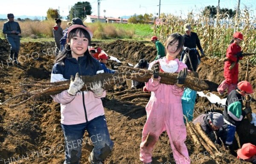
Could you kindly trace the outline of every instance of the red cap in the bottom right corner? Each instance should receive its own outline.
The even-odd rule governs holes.
[[[248,159],[252,156],[256,156],[256,146],[251,143],[243,144],[241,149],[237,151],[237,157],[241,159]]]

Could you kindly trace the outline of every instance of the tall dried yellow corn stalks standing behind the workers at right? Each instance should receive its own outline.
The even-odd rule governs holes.
[[[168,34],[174,32],[184,34],[183,25],[191,23],[192,31],[198,34],[205,54],[223,57],[233,39],[234,31],[239,31],[244,35],[244,41],[241,43],[242,50],[246,53],[253,53],[256,51],[256,19],[251,14],[250,11],[244,10],[241,11],[239,17],[222,19],[227,13],[218,14],[212,18],[210,13],[202,15],[190,12],[185,20],[173,15],[164,15],[161,24],[154,25],[154,33],[161,42],[164,42]],[[250,57],[250,61],[256,62],[256,58]]]

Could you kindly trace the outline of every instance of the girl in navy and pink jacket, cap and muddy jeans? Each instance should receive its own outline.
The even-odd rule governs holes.
[[[53,95],[55,102],[61,104],[61,127],[65,137],[64,164],[79,164],[84,132],[87,130],[94,145],[90,153],[90,164],[102,164],[113,148],[110,139],[101,97],[105,97],[100,85],[80,92],[84,82],[79,75],[103,73],[99,61],[91,57],[88,45],[93,37],[92,31],[83,25],[71,25],[67,32],[65,50],[56,58],[52,68],[51,82],[70,80],[70,88]],[[73,76],[76,78],[73,80]]]

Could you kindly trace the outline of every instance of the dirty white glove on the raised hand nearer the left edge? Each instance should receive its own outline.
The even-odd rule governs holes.
[[[67,93],[70,95],[76,95],[80,89],[84,86],[83,80],[80,78],[79,74],[76,73],[76,77],[73,80],[73,76],[70,78],[70,88],[67,90]]]

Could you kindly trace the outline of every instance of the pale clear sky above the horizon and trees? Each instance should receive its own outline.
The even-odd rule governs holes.
[[[83,0],[81,0],[83,1]],[[86,0],[84,0],[86,1]],[[241,0],[241,8],[246,5],[256,12],[256,0]],[[67,16],[69,8],[78,0],[1,0],[0,14],[13,13],[16,16],[46,16],[49,8],[60,10]],[[87,0],[92,6],[92,15],[98,15],[98,0]],[[220,8],[235,9],[238,0],[220,0]],[[217,6],[218,0],[161,0],[160,13],[186,16],[188,11],[199,12],[205,6]],[[159,12],[159,0],[100,0],[100,15],[106,17],[130,16]],[[103,11],[106,12],[103,12]],[[255,13],[254,13],[255,15]]]

